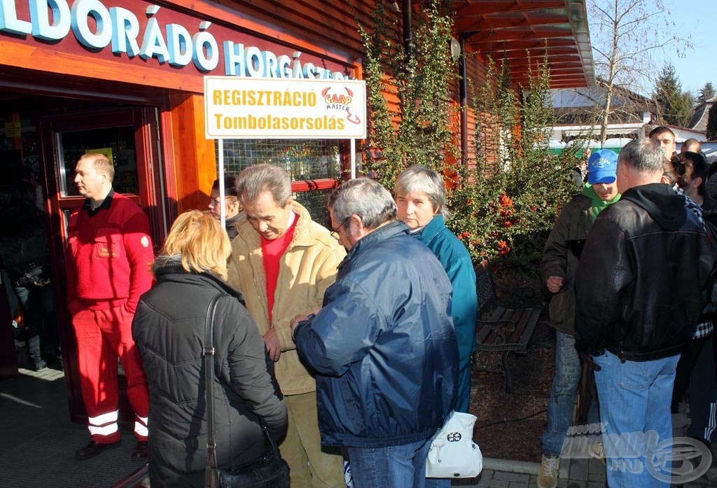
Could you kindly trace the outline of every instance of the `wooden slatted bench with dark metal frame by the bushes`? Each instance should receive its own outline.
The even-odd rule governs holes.
[[[475,268],[475,286],[479,307],[474,365],[479,370],[489,372],[502,370],[505,391],[511,393],[513,383],[508,355],[526,354],[528,342],[543,309],[532,288],[507,288],[496,284],[487,257]],[[508,306],[500,302],[498,292],[501,296],[511,295],[518,305]]]

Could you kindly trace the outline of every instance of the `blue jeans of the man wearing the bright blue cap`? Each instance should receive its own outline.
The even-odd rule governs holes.
[[[548,425],[541,439],[541,451],[559,456],[568,429],[573,424],[575,397],[582,373],[582,363],[572,335],[556,331],[555,377],[548,401]],[[599,421],[597,402],[593,396],[587,413],[587,423]]]

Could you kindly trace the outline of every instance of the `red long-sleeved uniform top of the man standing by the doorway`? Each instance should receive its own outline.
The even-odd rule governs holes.
[[[129,198],[115,193],[109,209],[90,216],[80,206],[68,221],[70,311],[123,303],[134,311],[140,295],[152,284],[154,252],[147,216]]]

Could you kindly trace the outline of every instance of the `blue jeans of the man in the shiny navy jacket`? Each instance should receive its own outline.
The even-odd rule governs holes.
[[[431,439],[389,447],[349,447],[353,488],[424,488]]]

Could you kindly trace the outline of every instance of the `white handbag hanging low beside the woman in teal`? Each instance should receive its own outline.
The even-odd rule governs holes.
[[[475,478],[483,470],[483,454],[473,442],[470,413],[451,412],[436,435],[426,458],[427,478]]]

